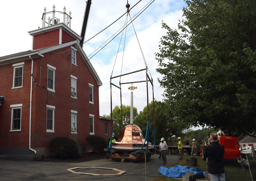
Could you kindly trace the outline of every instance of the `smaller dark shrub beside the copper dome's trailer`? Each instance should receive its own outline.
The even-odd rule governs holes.
[[[101,136],[96,136],[96,135],[87,136],[86,141],[88,141],[88,143],[90,144],[91,151],[95,153],[103,152],[104,148],[107,148],[108,146],[108,141]]]

